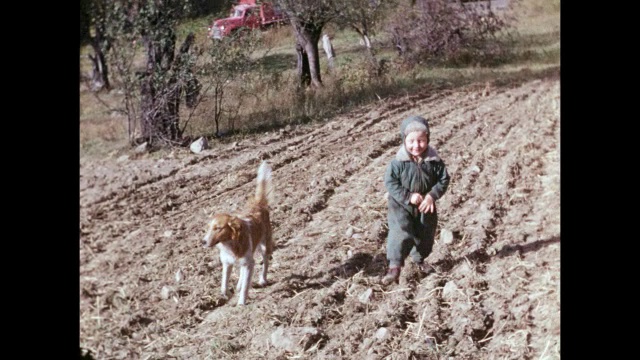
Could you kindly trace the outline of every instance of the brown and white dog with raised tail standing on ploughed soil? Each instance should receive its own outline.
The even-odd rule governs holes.
[[[255,251],[258,250],[262,254],[262,272],[258,281],[260,286],[267,284],[267,270],[273,252],[269,219],[271,167],[266,161],[260,164],[257,183],[255,196],[249,199],[245,211],[241,214],[215,214],[207,226],[207,234],[202,239],[204,247],[215,245],[220,250],[220,291],[225,299],[229,298],[229,275],[233,265],[236,264],[240,268],[236,286],[236,293],[239,293],[238,305],[244,305],[247,301],[255,265]]]

